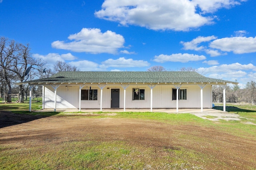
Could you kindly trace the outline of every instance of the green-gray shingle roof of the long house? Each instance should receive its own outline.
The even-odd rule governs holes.
[[[50,78],[27,81],[24,83],[184,83],[184,82],[225,82],[226,80],[208,78],[192,71],[164,72],[95,72],[95,71],[66,71],[58,72]]]

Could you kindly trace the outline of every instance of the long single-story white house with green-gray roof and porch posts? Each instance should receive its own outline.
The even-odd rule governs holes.
[[[43,109],[176,108],[177,112],[179,108],[212,108],[212,85],[224,87],[226,111],[226,84],[238,84],[192,71],[64,71],[21,83],[30,86],[30,94],[33,86],[43,86]]]

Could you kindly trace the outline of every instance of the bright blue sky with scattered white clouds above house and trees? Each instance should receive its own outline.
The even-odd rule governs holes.
[[[0,36],[82,71],[196,68],[256,81],[255,0],[0,0]]]

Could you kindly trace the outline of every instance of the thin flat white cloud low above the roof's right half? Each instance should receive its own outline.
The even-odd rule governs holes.
[[[200,60],[205,60],[206,57],[204,55],[194,55],[194,54],[172,54],[172,55],[158,55],[154,57],[153,61],[156,61],[158,63],[164,63],[168,61],[172,62],[181,62],[181,63],[187,63],[189,61],[200,61]]]

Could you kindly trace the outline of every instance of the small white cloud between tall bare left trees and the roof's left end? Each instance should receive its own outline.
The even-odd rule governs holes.
[[[74,60],[76,59],[71,53],[59,55],[58,53],[49,53],[48,55],[33,54],[33,57],[36,59],[42,59],[47,62],[49,65],[54,65],[57,61],[65,62],[65,60]]]

